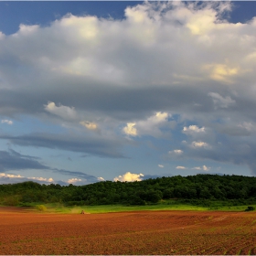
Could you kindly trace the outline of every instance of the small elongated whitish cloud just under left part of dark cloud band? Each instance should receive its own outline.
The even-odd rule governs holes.
[[[58,115],[59,117],[63,119],[76,119],[77,118],[77,112],[75,111],[74,107],[68,107],[63,106],[59,104],[59,106],[56,106],[55,102],[48,102],[45,106],[45,110],[47,112],[50,112],[52,114]]]

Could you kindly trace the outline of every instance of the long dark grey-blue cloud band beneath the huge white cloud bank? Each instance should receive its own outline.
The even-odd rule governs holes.
[[[32,83],[32,82],[31,82]],[[239,88],[239,84],[234,88]],[[221,107],[214,104],[208,94],[211,92],[230,96],[234,104]],[[108,81],[102,82],[81,78],[65,77],[53,80],[35,80],[35,87],[16,90],[0,90],[0,113],[7,116],[17,114],[39,114],[45,112],[48,101],[74,107],[81,112],[97,112],[100,116],[110,116],[119,121],[140,119],[155,111],[193,113],[193,116],[229,114],[236,118],[252,118],[256,121],[254,99],[250,91],[233,95],[232,91],[223,91],[218,82],[198,81],[197,86],[151,85],[141,87],[122,87]],[[228,97],[227,96],[227,97]]]

